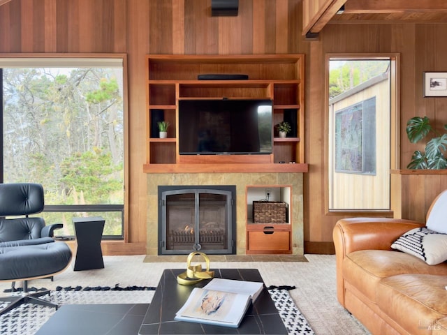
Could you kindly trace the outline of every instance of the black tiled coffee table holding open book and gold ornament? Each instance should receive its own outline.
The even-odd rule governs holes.
[[[154,293],[139,335],[152,334],[287,334],[277,308],[266,288],[252,304],[240,327],[230,328],[202,323],[174,320],[175,313],[183,306],[195,287],[203,287],[209,281],[196,285],[177,284],[177,275],[184,269],[166,269],[163,271],[159,285]],[[214,269],[219,278],[263,282],[257,269]]]

